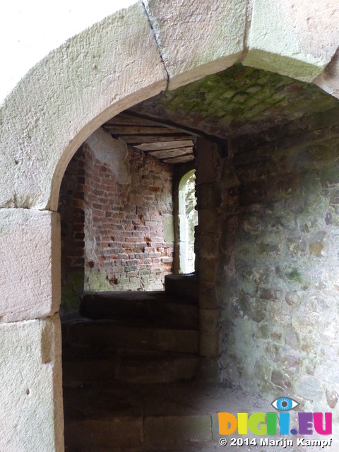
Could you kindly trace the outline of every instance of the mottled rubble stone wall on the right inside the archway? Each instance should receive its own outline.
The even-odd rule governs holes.
[[[222,379],[309,411],[339,394],[338,118],[234,140],[219,179]]]

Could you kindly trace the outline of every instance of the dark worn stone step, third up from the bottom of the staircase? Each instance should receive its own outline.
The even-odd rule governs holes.
[[[128,347],[135,350],[198,353],[198,331],[113,320],[78,320],[62,325],[64,345]]]

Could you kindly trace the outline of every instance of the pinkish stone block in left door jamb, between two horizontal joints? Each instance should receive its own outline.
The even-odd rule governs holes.
[[[0,210],[0,318],[50,316],[60,305],[60,221],[48,211]]]

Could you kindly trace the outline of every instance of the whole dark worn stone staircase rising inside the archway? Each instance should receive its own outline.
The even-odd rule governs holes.
[[[210,446],[210,414],[184,402],[201,358],[196,289],[175,296],[179,278],[171,295],[86,294],[62,322],[66,452]]]

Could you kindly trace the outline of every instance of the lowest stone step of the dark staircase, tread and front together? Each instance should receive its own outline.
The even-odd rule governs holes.
[[[159,451],[166,444],[212,442],[208,412],[173,400],[172,386],[151,386],[66,388],[66,451]]]

